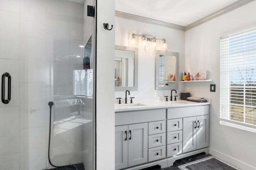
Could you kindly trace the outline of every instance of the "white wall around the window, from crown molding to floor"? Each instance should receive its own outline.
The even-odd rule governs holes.
[[[256,134],[220,125],[220,37],[248,25],[256,25],[256,2],[251,2],[186,31],[185,68],[194,72],[205,68],[213,82],[186,84],[186,92],[212,99],[210,105],[210,154],[241,168],[255,170]],[[216,84],[216,92],[210,92]]]

